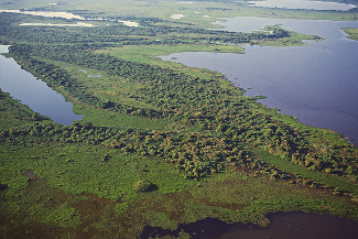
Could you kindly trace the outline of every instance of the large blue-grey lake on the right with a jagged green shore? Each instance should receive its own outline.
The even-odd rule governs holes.
[[[220,72],[247,89],[247,96],[267,96],[260,100],[263,105],[358,143],[358,41],[348,40],[340,30],[358,28],[358,22],[240,17],[221,24],[243,32],[282,24],[325,40],[296,47],[245,45],[246,54],[175,53],[162,59]]]

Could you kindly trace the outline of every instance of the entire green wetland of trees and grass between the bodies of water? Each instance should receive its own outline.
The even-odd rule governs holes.
[[[156,57],[321,40],[279,25],[209,30],[218,18],[356,21],[356,10],[230,0],[19,0],[0,9],[82,17],[0,11],[0,43],[83,115],[55,123],[0,90],[2,238],[140,238],[145,226],[174,230],[207,217],[267,227],[267,214],[297,210],[358,221],[356,146],[246,97],[219,73]],[[77,22],[93,26],[66,26]]]

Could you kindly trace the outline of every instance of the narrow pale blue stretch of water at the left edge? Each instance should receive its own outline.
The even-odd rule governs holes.
[[[0,45],[0,53],[6,53],[7,46]],[[50,117],[54,122],[70,124],[80,120],[82,116],[72,111],[73,104],[51,89],[41,79],[36,79],[15,63],[12,58],[0,55],[0,88],[10,93],[12,98],[28,105],[33,111]]]

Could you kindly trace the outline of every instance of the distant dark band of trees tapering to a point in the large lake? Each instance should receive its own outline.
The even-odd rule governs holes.
[[[0,12],[1,39],[25,41],[29,43],[102,43],[120,45],[149,44],[192,44],[194,42],[250,43],[252,40],[272,40],[286,37],[290,33],[278,29],[272,34],[239,33],[214,31],[195,28],[178,28],[170,25],[152,25],[132,28],[118,23],[96,28],[52,28],[52,26],[21,26],[18,23],[30,21],[33,17]],[[35,18],[37,19],[37,18]],[[68,20],[67,20],[68,21]],[[176,37],[175,34],[181,37]],[[188,36],[183,36],[184,34]],[[156,36],[161,36],[158,41]]]

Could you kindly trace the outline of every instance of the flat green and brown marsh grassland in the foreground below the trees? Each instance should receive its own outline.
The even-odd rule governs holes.
[[[109,155],[106,162],[100,161],[104,154]],[[357,207],[347,197],[285,181],[268,181],[235,167],[193,182],[155,159],[83,144],[31,149],[2,144],[2,155],[7,160],[1,161],[1,182],[9,186],[6,195],[1,193],[7,199],[2,215],[10,221],[24,221],[19,228],[17,222],[7,225],[2,220],[3,237],[32,236],[41,230],[44,238],[133,238],[145,224],[175,229],[178,224],[205,217],[265,226],[267,213],[282,210],[357,219]],[[23,174],[31,177],[30,185]],[[137,193],[132,185],[142,178],[158,189]]]

